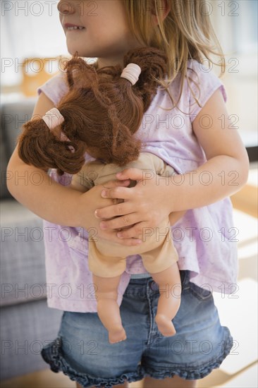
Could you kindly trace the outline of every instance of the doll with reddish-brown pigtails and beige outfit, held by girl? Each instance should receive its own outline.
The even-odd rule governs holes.
[[[156,94],[157,80],[166,75],[166,55],[154,47],[142,47],[128,51],[124,65],[124,69],[120,65],[97,69],[75,54],[65,68],[67,95],[42,119],[23,126],[18,145],[23,162],[73,174],[71,186],[82,192],[115,179],[118,171],[130,166],[160,176],[175,174],[162,159],[142,152],[142,143],[135,135]],[[85,164],[86,152],[95,160]],[[142,231],[142,244],[136,247],[99,236],[96,241],[90,239],[88,260],[97,290],[97,313],[111,344],[126,339],[117,289],[128,255],[141,255],[145,268],[159,284],[155,317],[159,331],[164,336],[176,333],[172,319],[180,295],[175,296],[173,289],[180,285],[180,275],[170,219],[175,222],[182,214],[173,213],[154,232]]]

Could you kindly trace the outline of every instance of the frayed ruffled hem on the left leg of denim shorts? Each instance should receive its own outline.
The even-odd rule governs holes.
[[[86,375],[82,372],[77,372],[67,363],[65,358],[62,356],[61,351],[62,339],[61,337],[57,337],[54,341],[52,341],[49,345],[42,348],[42,358],[46,363],[50,365],[50,369],[52,372],[63,372],[64,375],[67,375],[70,380],[76,381],[82,385],[82,387],[92,387],[93,385],[96,387],[104,387],[111,388],[116,384],[123,384],[125,381],[133,382],[139,381],[144,378],[144,372],[142,367],[139,365],[135,372],[123,373],[123,375],[119,377],[94,377],[91,375]]]

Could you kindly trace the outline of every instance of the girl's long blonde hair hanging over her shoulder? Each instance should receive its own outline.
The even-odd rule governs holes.
[[[225,62],[216,63],[211,54],[223,59],[223,51],[211,25],[209,13],[211,9],[205,0],[123,0],[128,15],[130,30],[144,46],[162,49],[167,57],[167,80],[159,80],[176,106],[183,91],[185,78],[192,92],[191,82],[199,85],[188,75],[188,60],[195,59],[202,63],[206,59],[209,66],[213,63],[221,67],[219,76],[225,73]],[[163,18],[165,4],[170,8],[166,18]],[[158,24],[154,25],[153,15]],[[168,85],[181,74],[180,93],[175,103],[168,91]],[[199,104],[197,97],[192,95]],[[201,106],[199,104],[199,106]]]

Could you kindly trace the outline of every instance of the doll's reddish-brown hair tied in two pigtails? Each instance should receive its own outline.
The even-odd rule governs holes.
[[[134,134],[156,95],[158,80],[166,75],[167,57],[160,49],[141,47],[125,54],[124,67],[128,63],[142,70],[135,85],[121,78],[120,65],[97,70],[75,54],[65,68],[69,91],[56,106],[63,123],[53,131],[42,119],[25,123],[18,142],[20,159],[59,174],[78,173],[85,152],[118,166],[137,159],[141,142]]]

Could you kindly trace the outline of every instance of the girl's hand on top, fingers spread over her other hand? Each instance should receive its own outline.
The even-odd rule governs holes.
[[[102,190],[103,198],[119,198],[124,202],[97,209],[97,218],[106,219],[100,222],[103,231],[123,229],[117,236],[127,245],[129,238],[140,238],[149,228],[155,228],[171,213],[171,201],[168,201],[166,181],[164,179],[147,178],[140,169],[125,169],[116,174],[119,180],[137,181],[133,188],[113,187]],[[115,218],[113,218],[115,217]],[[109,220],[107,220],[109,219]],[[121,241],[122,243],[122,241]]]

